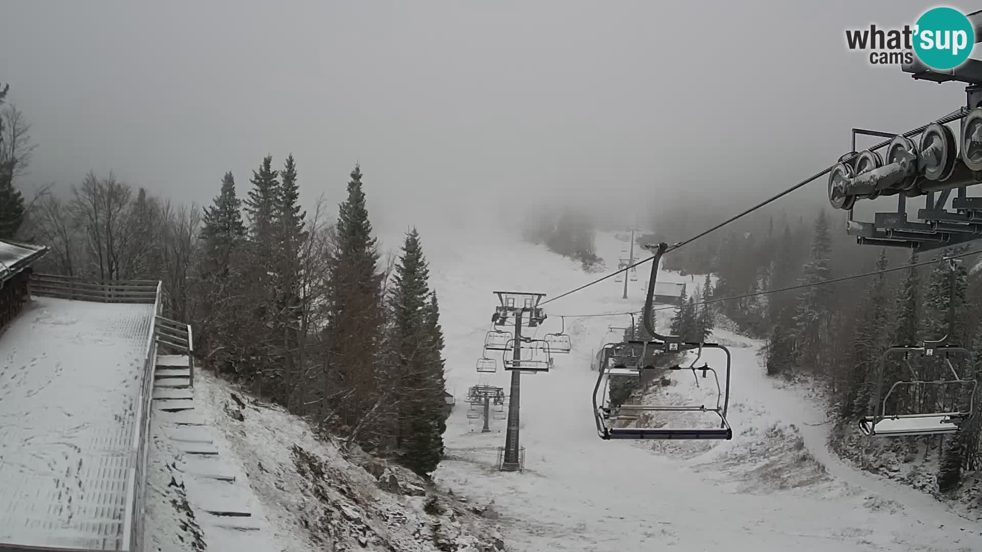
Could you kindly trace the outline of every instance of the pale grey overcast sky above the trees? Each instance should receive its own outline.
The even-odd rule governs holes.
[[[831,164],[853,126],[899,133],[962,103],[960,84],[846,51],[846,28],[933,6],[11,0],[0,82],[39,143],[25,184],[112,169],[205,203],[226,171],[244,195],[263,155],[293,152],[304,202],[332,212],[360,162],[379,228],[493,220],[493,198],[526,194],[752,203]]]

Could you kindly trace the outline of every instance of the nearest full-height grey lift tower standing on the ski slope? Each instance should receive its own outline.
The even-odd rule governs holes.
[[[545,311],[539,307],[545,294],[526,294],[520,292],[494,292],[501,302],[495,307],[491,321],[496,327],[511,325],[515,334],[513,361],[507,362],[506,370],[512,371],[512,389],[508,401],[508,429],[505,433],[505,454],[501,463],[502,471],[521,469],[518,447],[518,408],[521,394],[521,328],[534,328],[546,319]]]

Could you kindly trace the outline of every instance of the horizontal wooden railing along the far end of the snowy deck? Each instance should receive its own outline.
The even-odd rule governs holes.
[[[30,275],[30,294],[95,303],[154,304],[158,301],[159,284],[155,280],[96,282],[71,276],[35,273]]]

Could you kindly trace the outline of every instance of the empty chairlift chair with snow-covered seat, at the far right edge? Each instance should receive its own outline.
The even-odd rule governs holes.
[[[941,346],[940,342],[926,341],[921,347],[892,347],[880,357],[880,367],[878,371],[876,394],[874,405],[876,412],[872,415],[863,416],[859,419],[859,431],[866,436],[882,437],[902,437],[910,435],[938,435],[944,433],[955,433],[961,428],[962,423],[967,420],[972,413],[975,402],[975,391],[978,382],[958,375],[955,366],[952,364],[951,356],[958,355],[968,360],[968,365],[973,365],[973,355],[961,347]],[[887,359],[898,353],[903,354],[903,362],[910,372],[910,379],[900,380],[893,383],[883,394],[884,374],[886,371]],[[940,358],[944,362],[945,368],[951,379],[927,380],[922,378],[909,362],[910,353],[920,353],[922,358]],[[969,368],[970,369],[970,368]],[[970,389],[967,401],[959,401],[963,404],[953,405],[948,408],[943,405],[935,405],[933,409],[925,409],[928,412],[917,414],[893,414],[888,413],[888,402],[891,395],[903,386],[912,388],[924,388],[927,386],[939,386],[955,388],[955,399],[958,399],[958,387]]]

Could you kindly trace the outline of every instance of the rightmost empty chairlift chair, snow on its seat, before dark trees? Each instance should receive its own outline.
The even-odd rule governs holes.
[[[914,369],[911,355],[922,365],[920,373]],[[897,381],[885,381],[888,362],[898,356],[907,373],[901,370]],[[972,413],[977,381],[974,377],[960,375],[952,357],[966,359],[965,369],[973,370],[972,354],[961,347],[926,341],[920,347],[888,349],[880,357],[877,372],[873,402],[876,411],[859,419],[859,430],[864,435],[887,437],[958,431]],[[931,375],[924,372],[931,372]],[[890,387],[884,393],[887,384]],[[899,414],[900,410],[907,414]]]

